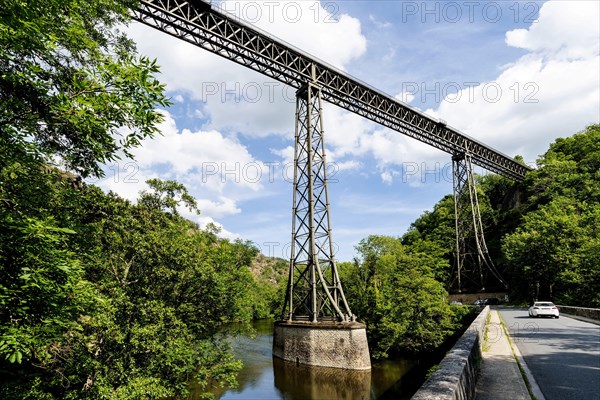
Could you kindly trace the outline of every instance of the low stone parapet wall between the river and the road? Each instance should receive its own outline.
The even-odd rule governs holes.
[[[490,307],[486,306],[412,400],[467,400],[475,397],[481,346],[489,312]]]

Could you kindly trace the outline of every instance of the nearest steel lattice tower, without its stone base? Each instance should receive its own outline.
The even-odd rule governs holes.
[[[288,321],[355,320],[333,254],[322,113],[321,89],[307,83],[296,92]]]

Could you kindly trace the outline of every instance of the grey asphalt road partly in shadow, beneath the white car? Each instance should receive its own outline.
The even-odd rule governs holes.
[[[546,400],[600,400],[600,326],[499,311]]]

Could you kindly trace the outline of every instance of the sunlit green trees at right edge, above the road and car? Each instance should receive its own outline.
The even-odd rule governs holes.
[[[525,193],[521,223],[503,239],[515,295],[600,307],[600,125],[557,139]]]

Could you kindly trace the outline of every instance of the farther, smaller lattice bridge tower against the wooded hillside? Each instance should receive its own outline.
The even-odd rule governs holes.
[[[483,236],[471,157],[468,153],[454,155],[452,166],[456,249],[450,288],[458,292],[484,291],[488,273],[491,273],[506,288],[506,282],[490,258]]]

